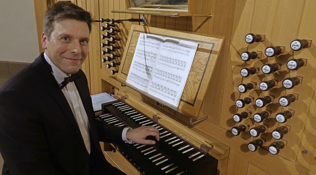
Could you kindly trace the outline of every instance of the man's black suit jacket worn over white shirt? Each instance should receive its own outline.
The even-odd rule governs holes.
[[[0,89],[2,175],[106,175],[99,141],[120,143],[123,128],[94,117],[84,73],[76,87],[90,126],[91,153],[86,151],[72,110],[41,54]],[[113,168],[113,167],[112,167]]]

